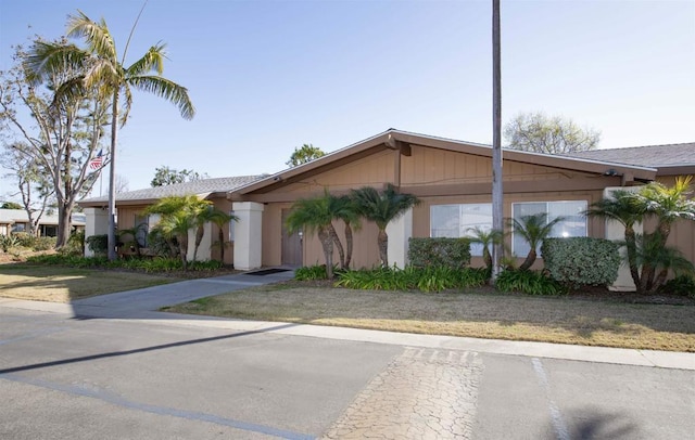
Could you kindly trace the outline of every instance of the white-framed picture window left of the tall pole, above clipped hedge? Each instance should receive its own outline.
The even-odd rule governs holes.
[[[492,204],[432,205],[430,207],[431,237],[470,237],[471,229],[492,229]],[[482,245],[472,243],[470,255],[482,256]]]

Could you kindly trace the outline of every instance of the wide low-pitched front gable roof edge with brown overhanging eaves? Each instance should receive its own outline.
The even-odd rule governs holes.
[[[403,151],[403,148],[409,148],[410,145],[492,157],[491,145],[389,129],[382,133],[329,153],[309,163],[280,171],[268,176],[265,179],[241,186],[230,192],[228,197],[237,198],[243,194],[269,192],[282,186],[283,184],[290,183],[293,180],[300,179],[300,176],[301,178],[306,178],[379,151],[400,148]],[[647,166],[616,164],[594,158],[558,156],[514,150],[505,150],[503,156],[504,160],[542,165],[566,170],[596,172],[599,174],[611,170],[611,172],[617,172],[618,174],[632,176],[635,180],[649,181],[654,180],[656,176],[656,169]]]

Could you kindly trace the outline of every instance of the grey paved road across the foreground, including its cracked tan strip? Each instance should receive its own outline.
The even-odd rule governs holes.
[[[0,439],[695,437],[695,371],[293,327],[0,307]]]

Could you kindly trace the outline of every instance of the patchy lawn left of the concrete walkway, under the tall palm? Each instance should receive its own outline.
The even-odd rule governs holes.
[[[0,264],[0,297],[70,302],[177,280],[130,272],[99,271],[27,263]]]

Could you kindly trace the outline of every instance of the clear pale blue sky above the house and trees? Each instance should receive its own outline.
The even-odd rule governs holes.
[[[491,3],[150,0],[126,64],[166,42],[164,75],[198,114],[136,92],[117,172],[130,190],[163,165],[277,172],[303,143],[331,152],[391,127],[491,143]],[[78,9],[122,53],[142,4],[0,0],[0,69],[11,46],[63,35]],[[695,1],[502,0],[502,82],[503,121],[564,115],[605,148],[694,142]]]

